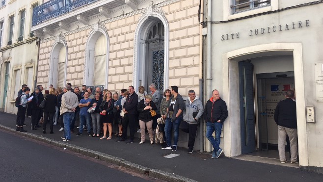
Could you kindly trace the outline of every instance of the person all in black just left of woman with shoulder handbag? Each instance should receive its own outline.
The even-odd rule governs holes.
[[[43,116],[43,109],[39,105],[43,102],[44,96],[39,87],[36,87],[30,97],[32,96],[33,98],[28,105],[28,107],[31,107],[31,130],[37,130],[38,121]]]

